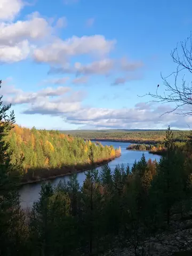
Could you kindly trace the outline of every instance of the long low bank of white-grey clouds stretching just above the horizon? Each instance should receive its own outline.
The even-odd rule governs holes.
[[[14,88],[12,88],[13,90]],[[106,128],[166,128],[167,125],[186,128],[187,124],[192,124],[191,117],[183,117],[170,113],[161,114],[172,108],[167,105],[137,103],[133,108],[93,108],[83,105],[86,97],[84,91],[73,91],[69,87],[59,86],[56,89],[47,87],[37,92],[26,93],[13,90],[14,95],[9,91],[5,101],[13,104],[25,103],[26,109],[23,114],[40,114],[60,116],[70,124],[89,125]],[[53,97],[53,98],[51,98]]]

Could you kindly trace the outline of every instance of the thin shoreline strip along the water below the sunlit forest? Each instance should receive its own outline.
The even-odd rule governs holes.
[[[118,158],[120,156],[121,156],[121,154],[118,155],[118,156],[115,156],[114,158],[111,158],[107,161],[103,161],[103,162],[100,162],[98,164],[95,163],[94,165],[90,165],[89,167],[84,167],[83,169],[79,169],[79,170],[78,169],[71,169],[71,170],[73,170],[72,172],[69,171],[67,173],[52,175],[52,176],[47,177],[47,178],[39,178],[39,179],[36,179],[36,180],[28,180],[28,181],[20,182],[19,187],[22,187],[22,186],[27,185],[27,184],[39,183],[39,182],[46,181],[46,180],[53,180],[53,179],[56,179],[56,178],[59,178],[59,177],[64,177],[64,176],[71,175],[71,174],[74,174],[74,173],[85,172],[87,170],[90,170],[91,168],[98,168],[98,167],[101,167],[102,165],[108,164],[109,162],[115,160],[116,158]]]

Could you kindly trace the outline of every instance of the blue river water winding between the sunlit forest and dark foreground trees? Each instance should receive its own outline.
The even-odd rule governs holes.
[[[129,164],[130,167],[132,167],[135,159],[137,161],[139,161],[143,153],[145,154],[146,160],[151,158],[152,160],[157,159],[157,161],[158,161],[159,158],[160,158],[160,156],[158,156],[158,155],[149,154],[148,151],[126,150],[126,147],[128,145],[130,145],[130,143],[127,143],[127,142],[101,141],[101,143],[102,143],[103,146],[113,145],[114,148],[118,148],[119,146],[121,147],[122,155],[109,163],[109,166],[110,166],[111,170],[114,170],[115,166],[117,164],[122,164],[122,163],[125,164],[125,165]],[[100,167],[98,169],[100,169]],[[83,181],[85,179],[85,173],[84,172],[77,173],[77,178],[78,178],[79,184],[82,185]],[[53,186],[57,186],[59,181],[64,180],[64,179],[68,180],[69,175],[52,179],[52,180],[50,180],[50,182],[52,183]],[[27,185],[23,185],[20,188],[19,194],[20,194],[21,207],[23,209],[31,207],[33,205],[33,202],[38,200],[39,191],[41,190],[41,185],[42,185],[43,182],[48,182],[48,181],[42,181],[42,182],[38,182],[38,183],[27,184]]]

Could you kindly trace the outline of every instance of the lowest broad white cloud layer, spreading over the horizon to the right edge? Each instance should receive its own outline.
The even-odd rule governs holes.
[[[31,97],[33,96],[32,94]],[[107,128],[144,129],[168,125],[174,125],[174,127],[178,125],[183,128],[187,123],[192,124],[192,119],[189,120],[188,117],[174,113],[161,117],[165,110],[172,109],[170,106],[148,105],[145,102],[139,102],[133,108],[92,108],[82,105],[84,97],[84,92],[79,91],[71,93],[69,97],[64,95],[54,100],[49,97],[36,99],[23,113],[60,116],[70,124]]]

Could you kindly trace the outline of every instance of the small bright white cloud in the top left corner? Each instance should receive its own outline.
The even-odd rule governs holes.
[[[21,0],[1,0],[0,20],[12,21],[21,11],[24,3]]]

